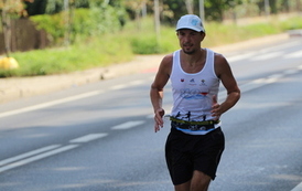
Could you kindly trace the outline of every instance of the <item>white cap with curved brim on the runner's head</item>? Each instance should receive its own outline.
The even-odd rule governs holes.
[[[185,14],[177,21],[176,31],[180,29],[191,29],[197,32],[205,32],[201,18],[195,14]]]

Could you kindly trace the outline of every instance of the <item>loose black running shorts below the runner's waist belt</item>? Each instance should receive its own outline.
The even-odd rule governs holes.
[[[225,149],[220,127],[206,135],[187,135],[171,128],[165,144],[165,160],[174,185],[192,179],[198,170],[213,180]]]

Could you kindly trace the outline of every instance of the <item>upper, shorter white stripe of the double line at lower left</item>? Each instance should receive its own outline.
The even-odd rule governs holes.
[[[31,156],[35,156],[35,155],[39,155],[41,152],[53,150],[53,149],[58,148],[58,147],[61,147],[61,145],[47,146],[47,147],[43,147],[41,149],[32,150],[30,152],[25,152],[25,153],[22,153],[22,155],[12,157],[12,158],[8,158],[6,160],[1,160],[0,166],[6,166],[8,163],[15,162],[18,160],[21,160],[21,159],[24,159],[24,158],[28,158],[28,157],[31,157]]]

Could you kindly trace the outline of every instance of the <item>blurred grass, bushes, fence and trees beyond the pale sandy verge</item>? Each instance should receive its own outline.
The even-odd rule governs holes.
[[[0,77],[67,73],[179,49],[174,25],[199,15],[217,46],[302,28],[302,0],[0,0]],[[45,59],[46,57],[46,59]]]

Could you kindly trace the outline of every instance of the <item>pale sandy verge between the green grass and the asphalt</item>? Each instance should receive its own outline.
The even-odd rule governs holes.
[[[288,33],[248,40],[245,42],[211,47],[215,52],[228,52],[248,49],[251,46],[276,43],[289,39]],[[64,88],[80,86],[118,76],[131,75],[144,71],[154,71],[164,55],[138,55],[131,62],[116,64],[107,67],[97,67],[69,74],[0,78],[0,104],[19,98],[47,94]]]

